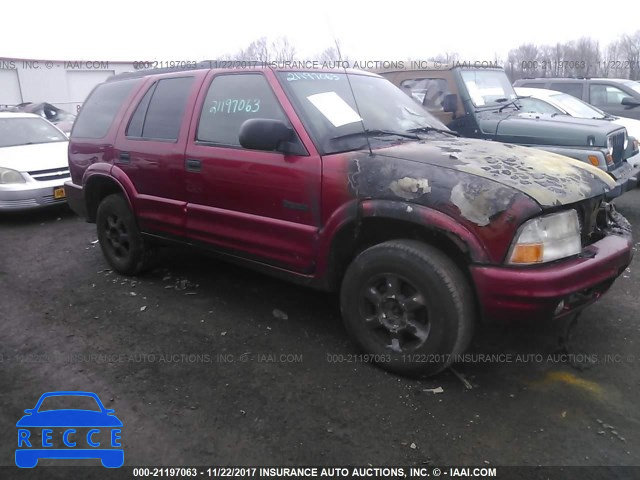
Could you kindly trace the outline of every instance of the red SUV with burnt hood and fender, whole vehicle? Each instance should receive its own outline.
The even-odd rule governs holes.
[[[337,291],[355,343],[404,374],[446,368],[482,319],[576,312],[632,257],[606,173],[460,138],[359,71],[117,75],[69,165],[69,204],[116,271],[177,240]]]

